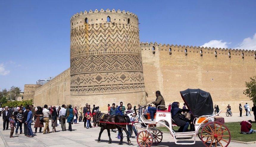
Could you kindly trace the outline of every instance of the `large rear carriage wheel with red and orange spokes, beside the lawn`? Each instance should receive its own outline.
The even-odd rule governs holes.
[[[207,147],[227,147],[230,143],[230,131],[220,122],[210,122],[201,131],[201,140]]]

